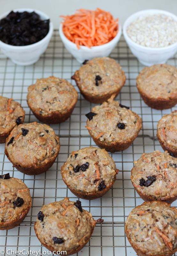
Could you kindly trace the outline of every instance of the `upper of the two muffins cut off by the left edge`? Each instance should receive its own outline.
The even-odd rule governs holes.
[[[0,143],[5,143],[12,129],[23,124],[25,110],[12,98],[0,96]]]

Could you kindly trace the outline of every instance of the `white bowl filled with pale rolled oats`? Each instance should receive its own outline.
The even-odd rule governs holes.
[[[127,18],[123,35],[145,66],[165,63],[177,51],[177,16],[163,10],[143,10]]]

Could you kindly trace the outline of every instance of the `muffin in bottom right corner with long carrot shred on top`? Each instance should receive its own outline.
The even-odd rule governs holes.
[[[160,201],[144,202],[125,222],[129,243],[140,256],[172,256],[177,251],[177,210]]]

